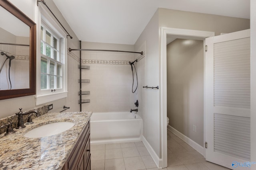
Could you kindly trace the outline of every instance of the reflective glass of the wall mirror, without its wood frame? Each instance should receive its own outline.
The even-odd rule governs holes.
[[[30,27],[0,6],[0,90],[30,88]]]

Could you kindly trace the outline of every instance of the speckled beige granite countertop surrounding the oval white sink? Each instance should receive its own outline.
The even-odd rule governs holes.
[[[0,135],[1,170],[61,170],[92,112],[47,113],[16,133]],[[75,125],[57,135],[26,138],[23,135],[43,124],[71,121]]]

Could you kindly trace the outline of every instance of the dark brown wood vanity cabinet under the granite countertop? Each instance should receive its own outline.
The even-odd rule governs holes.
[[[90,170],[91,154],[90,154],[90,121],[82,130],[76,146],[68,156],[68,160],[62,170]]]

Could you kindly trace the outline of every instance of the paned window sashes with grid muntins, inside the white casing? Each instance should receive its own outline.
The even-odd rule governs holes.
[[[62,91],[62,38],[41,23],[41,93]],[[46,92],[47,93],[47,92]]]

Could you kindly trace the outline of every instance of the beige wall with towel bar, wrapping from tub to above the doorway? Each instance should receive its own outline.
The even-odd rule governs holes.
[[[213,31],[215,35],[219,35],[220,33],[249,29],[250,20],[158,8],[135,43],[136,49],[146,41],[146,82],[148,86],[160,84],[161,27]],[[148,123],[144,126],[149,126],[149,128],[144,136],[158,157],[161,158],[160,93],[159,90],[147,90],[146,93]]]

